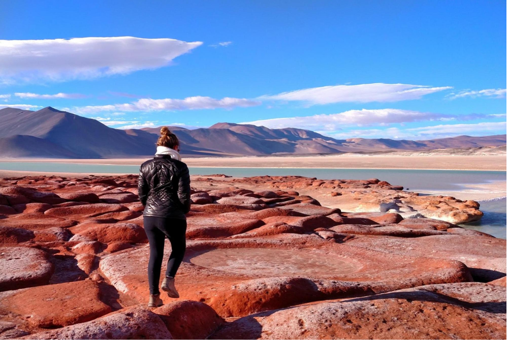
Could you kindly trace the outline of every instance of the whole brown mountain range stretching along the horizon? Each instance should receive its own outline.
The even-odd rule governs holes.
[[[303,129],[216,123],[188,130],[169,127],[187,157],[428,151],[506,146],[506,135],[392,140],[323,136]],[[154,153],[160,128],[120,130],[70,112],[0,110],[0,158],[138,158]]]

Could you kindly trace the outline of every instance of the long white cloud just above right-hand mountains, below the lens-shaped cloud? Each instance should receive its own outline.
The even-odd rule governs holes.
[[[407,123],[423,120],[456,120],[456,119],[478,119],[485,118],[485,115],[471,114],[464,116],[437,114],[400,109],[378,109],[378,110],[349,110],[335,114],[316,114],[304,117],[272,118],[243,122],[265,126],[272,129],[300,128],[313,131],[335,131],[343,126],[369,126],[388,125],[393,123]]]

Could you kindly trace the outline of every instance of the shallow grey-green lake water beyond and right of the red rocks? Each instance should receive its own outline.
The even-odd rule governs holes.
[[[220,162],[220,160],[217,160]],[[138,165],[102,165],[51,162],[0,162],[0,170],[71,172],[71,173],[132,173]],[[192,175],[226,174],[235,177],[297,175],[320,179],[379,178],[410,191],[461,190],[462,184],[482,184],[506,180],[506,171],[459,170],[394,170],[394,169],[302,169],[302,168],[189,168]],[[464,225],[496,237],[506,238],[506,198],[481,202],[485,213],[481,221]]]

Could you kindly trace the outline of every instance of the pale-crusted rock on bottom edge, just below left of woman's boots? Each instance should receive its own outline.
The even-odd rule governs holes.
[[[144,308],[127,308],[103,318],[47,332],[28,335],[26,340],[173,340],[164,322]]]

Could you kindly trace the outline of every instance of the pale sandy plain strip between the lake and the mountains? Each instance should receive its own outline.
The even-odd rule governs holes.
[[[137,165],[147,159],[0,159],[0,162],[57,162],[82,164]],[[184,158],[190,167],[219,168],[332,168],[332,169],[423,169],[423,170],[501,170],[503,156],[291,156]]]

